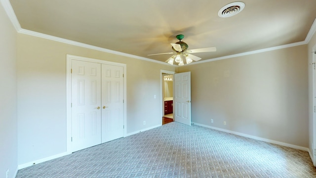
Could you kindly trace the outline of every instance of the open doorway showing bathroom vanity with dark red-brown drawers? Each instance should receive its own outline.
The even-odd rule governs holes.
[[[173,74],[161,70],[161,125],[173,122]]]

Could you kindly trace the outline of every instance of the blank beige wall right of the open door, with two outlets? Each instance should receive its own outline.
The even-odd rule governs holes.
[[[307,67],[300,45],[178,72],[191,71],[193,122],[308,147]]]

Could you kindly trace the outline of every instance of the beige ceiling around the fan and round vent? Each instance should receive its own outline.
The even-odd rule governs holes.
[[[22,29],[158,61],[183,34],[201,60],[305,40],[316,0],[242,0],[244,9],[221,18],[232,0],[10,0]]]

